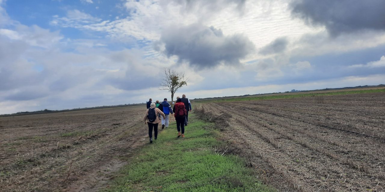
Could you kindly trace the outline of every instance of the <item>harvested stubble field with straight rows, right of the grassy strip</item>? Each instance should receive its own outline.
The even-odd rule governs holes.
[[[385,191],[385,93],[201,104],[265,182],[295,191]],[[279,183],[277,183],[279,181]]]

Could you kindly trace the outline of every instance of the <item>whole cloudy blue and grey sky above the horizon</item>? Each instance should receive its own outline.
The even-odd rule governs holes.
[[[0,114],[170,100],[163,68],[189,99],[385,84],[384,7],[0,0]]]

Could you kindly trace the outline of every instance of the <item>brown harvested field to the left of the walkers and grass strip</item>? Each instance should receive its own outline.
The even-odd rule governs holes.
[[[147,143],[144,106],[0,117],[0,189],[95,191]]]

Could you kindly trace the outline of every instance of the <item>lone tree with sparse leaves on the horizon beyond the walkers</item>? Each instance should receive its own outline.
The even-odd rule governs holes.
[[[184,78],[184,73],[164,68],[164,79],[161,83],[161,90],[168,90],[171,92],[171,101],[174,101],[175,92],[184,85],[187,85],[188,78]]]

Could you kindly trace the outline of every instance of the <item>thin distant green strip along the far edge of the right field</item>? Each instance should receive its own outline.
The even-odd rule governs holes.
[[[340,91],[340,92],[329,92],[329,93],[293,93],[285,95],[269,95],[269,96],[255,96],[255,97],[240,97],[231,99],[213,99],[206,101],[196,101],[194,103],[216,103],[216,102],[230,102],[230,101],[254,101],[264,99],[288,99],[297,97],[310,97],[310,96],[323,96],[323,95],[342,95],[342,94],[357,94],[357,93],[378,93],[385,92],[385,89],[370,89],[370,90],[357,90],[357,91]]]

